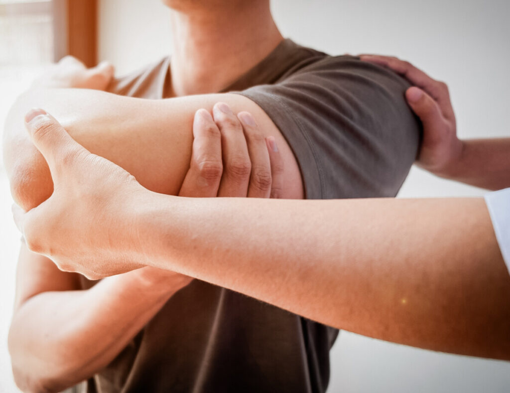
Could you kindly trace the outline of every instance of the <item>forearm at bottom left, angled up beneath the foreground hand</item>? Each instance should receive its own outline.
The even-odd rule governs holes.
[[[172,283],[150,285],[133,273],[90,290],[44,292],[24,302],[9,333],[17,384],[60,391],[107,366],[173,293]]]

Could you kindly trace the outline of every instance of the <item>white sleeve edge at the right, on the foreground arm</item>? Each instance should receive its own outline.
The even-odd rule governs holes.
[[[485,196],[501,255],[510,272],[510,188]]]

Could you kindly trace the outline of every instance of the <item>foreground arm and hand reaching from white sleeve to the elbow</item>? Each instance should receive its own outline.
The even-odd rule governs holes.
[[[374,338],[510,359],[510,279],[482,199],[179,199],[47,115],[28,127],[57,187],[15,220],[61,268],[103,276],[130,258]]]

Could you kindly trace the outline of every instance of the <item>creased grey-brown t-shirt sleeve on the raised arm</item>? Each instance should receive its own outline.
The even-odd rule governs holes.
[[[308,199],[395,196],[414,162],[420,123],[409,84],[353,57],[326,57],[242,94],[287,139]]]

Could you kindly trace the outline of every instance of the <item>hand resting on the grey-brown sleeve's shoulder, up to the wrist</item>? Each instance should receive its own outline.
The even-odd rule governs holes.
[[[463,142],[457,137],[455,114],[446,84],[395,57],[364,54],[360,58],[388,67],[414,85],[407,89],[405,97],[423,123],[423,142],[416,163],[433,174],[449,177],[461,158]]]

